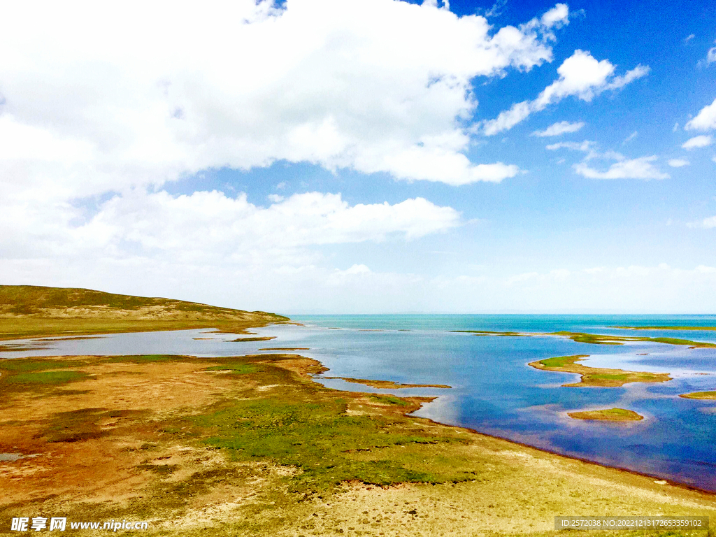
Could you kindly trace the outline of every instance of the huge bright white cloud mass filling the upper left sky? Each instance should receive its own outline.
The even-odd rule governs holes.
[[[436,5],[5,6],[2,186],[62,198],[276,160],[455,185],[510,177],[464,158],[471,80],[551,61],[569,10],[493,28]]]

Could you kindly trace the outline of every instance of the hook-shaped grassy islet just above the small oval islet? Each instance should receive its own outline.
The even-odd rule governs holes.
[[[562,384],[565,387],[619,387],[629,382],[667,382],[672,379],[667,373],[624,371],[624,369],[589,367],[578,363],[588,357],[588,354],[559,356],[531,362],[529,365],[544,371],[581,375],[579,382]]]

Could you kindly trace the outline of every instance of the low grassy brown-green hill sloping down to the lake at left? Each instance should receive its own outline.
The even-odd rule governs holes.
[[[0,286],[0,340],[197,328],[242,333],[250,326],[281,321],[289,319],[264,311],[172,299],[90,289]]]

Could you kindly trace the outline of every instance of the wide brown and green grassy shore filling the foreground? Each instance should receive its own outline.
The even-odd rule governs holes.
[[[146,520],[147,536],[555,536],[565,513],[716,516],[714,495],[410,417],[426,398],[329,390],[311,379],[322,369],[295,354],[0,361],[0,453],[34,455],[0,462],[0,521]],[[10,381],[69,371],[84,376]]]

